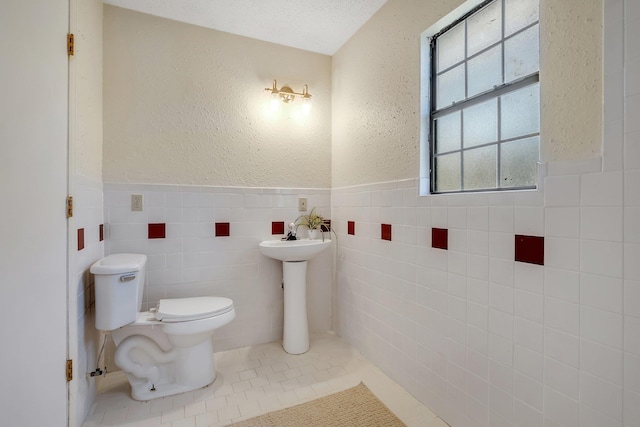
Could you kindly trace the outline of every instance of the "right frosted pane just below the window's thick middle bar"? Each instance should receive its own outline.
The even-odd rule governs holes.
[[[501,97],[500,138],[540,132],[540,88],[536,83]]]

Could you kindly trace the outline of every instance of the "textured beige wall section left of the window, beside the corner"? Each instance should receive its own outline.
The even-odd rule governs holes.
[[[415,178],[420,34],[461,0],[389,0],[333,56],[332,185]]]

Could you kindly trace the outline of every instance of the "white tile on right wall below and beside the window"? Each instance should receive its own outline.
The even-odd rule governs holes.
[[[335,330],[453,427],[640,426],[640,45],[623,43],[638,4],[605,1],[602,162],[549,165],[527,194],[418,197],[417,180],[332,192]],[[394,242],[379,239],[381,201],[405,212]],[[430,248],[430,227],[449,229],[449,251]],[[545,266],[513,261],[514,233],[545,236]],[[394,357],[407,348],[417,357]]]

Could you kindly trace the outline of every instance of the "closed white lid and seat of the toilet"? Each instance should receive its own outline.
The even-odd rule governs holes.
[[[223,297],[161,299],[156,319],[163,322],[187,322],[219,316],[233,310],[233,301]]]

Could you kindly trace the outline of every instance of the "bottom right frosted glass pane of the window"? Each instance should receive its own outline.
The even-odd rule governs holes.
[[[538,173],[540,138],[519,139],[500,146],[500,187],[533,187]]]

